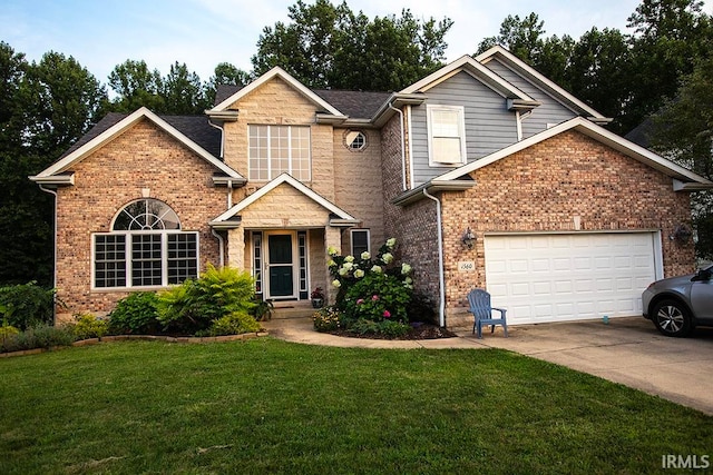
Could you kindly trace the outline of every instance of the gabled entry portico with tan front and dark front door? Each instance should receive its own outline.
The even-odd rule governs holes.
[[[227,264],[250,270],[264,299],[304,300],[329,293],[328,248],[360,220],[301,181],[282,174],[211,221],[227,232]]]

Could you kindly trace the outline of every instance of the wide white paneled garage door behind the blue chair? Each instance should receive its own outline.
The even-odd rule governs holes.
[[[642,315],[642,291],[656,279],[656,236],[486,236],[492,305],[514,325]]]

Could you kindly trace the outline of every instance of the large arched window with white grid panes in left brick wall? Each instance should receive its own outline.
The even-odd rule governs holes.
[[[131,201],[94,235],[94,287],[165,287],[198,275],[198,234],[157,199]]]

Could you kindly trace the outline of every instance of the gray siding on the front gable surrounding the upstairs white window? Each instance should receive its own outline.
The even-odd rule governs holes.
[[[467,72],[429,89],[427,101],[411,109],[413,187],[450,171],[453,167],[429,167],[426,105],[463,106],[468,161],[500,150],[517,141],[515,113],[506,99]]]

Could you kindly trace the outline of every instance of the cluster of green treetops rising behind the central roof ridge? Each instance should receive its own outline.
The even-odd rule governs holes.
[[[401,17],[369,20],[345,2],[302,0],[289,8],[292,22],[265,27],[252,62],[256,75],[284,68],[312,88],[399,90],[442,66],[452,26],[448,18]]]

